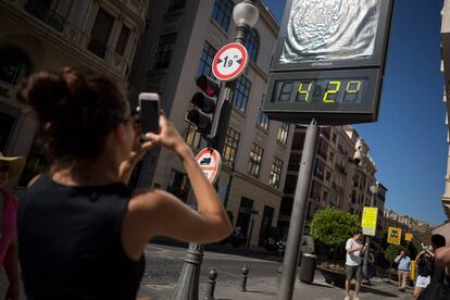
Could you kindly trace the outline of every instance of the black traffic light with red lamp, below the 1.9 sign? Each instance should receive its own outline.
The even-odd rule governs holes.
[[[192,96],[190,102],[193,104],[193,108],[188,112],[187,120],[197,126],[197,130],[200,134],[209,135],[214,121],[221,86],[205,75],[198,77],[196,84],[201,91]]]

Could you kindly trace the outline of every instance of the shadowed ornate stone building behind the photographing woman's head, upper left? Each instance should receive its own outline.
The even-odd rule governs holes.
[[[0,151],[27,164],[11,185],[17,193],[48,167],[34,146],[36,116],[15,99],[28,74],[88,66],[126,82],[145,29],[148,0],[0,1]]]

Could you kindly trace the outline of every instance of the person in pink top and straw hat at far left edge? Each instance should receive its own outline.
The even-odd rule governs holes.
[[[0,266],[4,268],[10,280],[5,300],[18,299],[18,262],[15,238],[18,199],[8,192],[5,188],[9,179],[17,176],[24,165],[24,158],[9,158],[0,152]]]

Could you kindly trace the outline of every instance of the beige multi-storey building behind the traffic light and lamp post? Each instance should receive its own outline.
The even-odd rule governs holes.
[[[165,113],[197,152],[205,141],[186,118],[198,91],[196,78],[213,77],[215,53],[236,36],[233,8],[240,1],[154,2],[130,85],[135,95],[160,93]],[[246,43],[251,60],[234,91],[217,184],[234,225],[242,228],[251,246],[264,245],[270,227],[277,224],[293,134],[291,126],[268,121],[261,112],[278,24],[261,1],[254,2],[260,18]],[[188,203],[193,199],[180,162],[165,149],[149,153],[135,179],[138,186],[166,189]]]

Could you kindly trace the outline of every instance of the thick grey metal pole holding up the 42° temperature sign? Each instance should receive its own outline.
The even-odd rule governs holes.
[[[318,126],[313,120],[311,125],[308,126],[299,177],[297,179],[286,253],[283,261],[283,274],[279,283],[278,300],[291,300],[293,295],[293,285],[296,283],[296,271],[299,262],[300,245],[308,210],[317,137]]]

